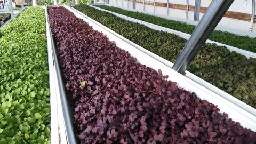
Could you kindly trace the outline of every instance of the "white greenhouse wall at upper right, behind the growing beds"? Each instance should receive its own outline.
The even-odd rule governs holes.
[[[127,5],[127,1],[125,1],[125,0],[117,0],[117,1],[118,1],[117,2],[118,5],[116,4],[116,0],[110,0],[110,5],[122,6],[122,1],[123,1],[122,7],[132,9],[132,1],[129,1],[129,6]],[[154,0],[149,0],[149,1],[154,2]],[[146,2],[148,2],[148,0]],[[166,3],[167,0],[156,0],[156,2]],[[186,5],[186,0],[169,0],[169,3],[185,4]],[[208,7],[209,4],[210,4],[209,0],[201,0],[201,6]],[[195,0],[189,0],[189,5],[195,5]],[[135,8],[136,8],[136,10],[143,11],[143,4],[136,3]],[[153,13],[154,6],[145,4],[145,11]],[[252,11],[252,2],[251,2],[251,0],[247,0],[245,2],[242,0],[235,0],[234,3],[229,8],[229,11],[243,12],[243,13],[250,14]],[[186,18],[185,12],[186,12],[186,10],[169,8],[168,14],[170,15],[170,17],[185,19]],[[155,13],[167,15],[167,8],[161,7],[161,6],[156,6]],[[203,17],[203,15],[204,15],[204,13],[200,13],[199,19],[201,19]],[[189,11],[188,20],[194,20],[194,11]],[[224,26],[224,27],[234,28],[234,29],[238,29],[238,30],[249,31],[250,22],[223,17],[218,26]],[[255,25],[254,25],[253,31],[256,32]]]

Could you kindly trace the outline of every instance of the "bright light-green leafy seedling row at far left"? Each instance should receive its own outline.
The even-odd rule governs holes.
[[[0,30],[0,143],[50,143],[45,10],[27,8]]]

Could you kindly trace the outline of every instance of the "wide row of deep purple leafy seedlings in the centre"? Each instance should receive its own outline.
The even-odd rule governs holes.
[[[49,20],[81,143],[253,143],[256,133],[65,9]]]

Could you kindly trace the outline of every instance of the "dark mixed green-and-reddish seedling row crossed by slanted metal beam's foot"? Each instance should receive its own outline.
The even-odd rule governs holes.
[[[174,34],[153,30],[87,5],[74,7],[130,41],[171,62],[175,62],[186,44],[185,39]],[[204,44],[190,63],[188,70],[237,99],[256,107],[256,59],[247,59],[244,55],[230,52],[224,46]]]

